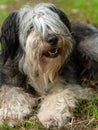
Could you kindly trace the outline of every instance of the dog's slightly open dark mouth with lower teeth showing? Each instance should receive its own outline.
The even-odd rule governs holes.
[[[44,56],[48,58],[55,58],[60,54],[61,49],[60,48],[52,48],[50,50],[47,50],[43,53]]]

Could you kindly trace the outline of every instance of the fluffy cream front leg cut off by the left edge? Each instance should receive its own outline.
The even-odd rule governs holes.
[[[4,85],[0,88],[0,123],[7,119],[9,124],[32,112],[36,99],[22,88]]]

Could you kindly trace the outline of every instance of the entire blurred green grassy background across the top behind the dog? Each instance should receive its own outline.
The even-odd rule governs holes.
[[[61,8],[70,21],[98,24],[98,0],[0,0],[0,26],[8,14],[24,4],[52,2]]]

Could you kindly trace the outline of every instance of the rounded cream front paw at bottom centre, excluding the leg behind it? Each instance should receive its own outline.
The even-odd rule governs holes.
[[[72,117],[68,104],[60,95],[46,98],[37,116],[45,128],[52,130],[61,128]]]

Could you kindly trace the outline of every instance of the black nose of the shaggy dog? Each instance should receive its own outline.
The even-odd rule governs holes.
[[[47,42],[50,45],[56,45],[58,42],[58,37],[55,34],[48,34],[47,36]]]

